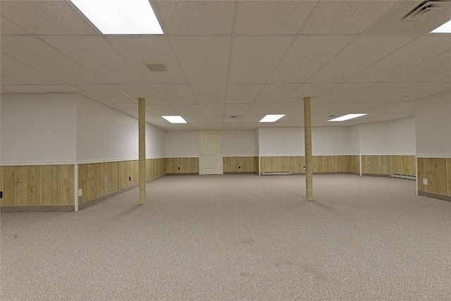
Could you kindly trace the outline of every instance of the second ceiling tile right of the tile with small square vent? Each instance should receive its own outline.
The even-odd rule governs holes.
[[[235,37],[229,81],[264,83],[278,65],[293,37]]]

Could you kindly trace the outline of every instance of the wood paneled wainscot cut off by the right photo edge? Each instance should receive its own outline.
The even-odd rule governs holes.
[[[451,158],[417,158],[418,194],[451,202]],[[426,179],[428,184],[424,185]]]

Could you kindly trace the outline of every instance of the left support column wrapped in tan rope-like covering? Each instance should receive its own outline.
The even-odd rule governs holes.
[[[140,204],[146,204],[146,99],[138,98]]]

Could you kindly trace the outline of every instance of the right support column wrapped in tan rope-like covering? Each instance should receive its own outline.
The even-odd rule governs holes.
[[[304,97],[305,192],[307,200],[313,201],[313,157],[311,156],[310,100],[310,97]]]

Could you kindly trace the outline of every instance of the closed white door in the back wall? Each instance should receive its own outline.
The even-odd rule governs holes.
[[[200,131],[199,174],[223,174],[223,134],[220,130]]]

